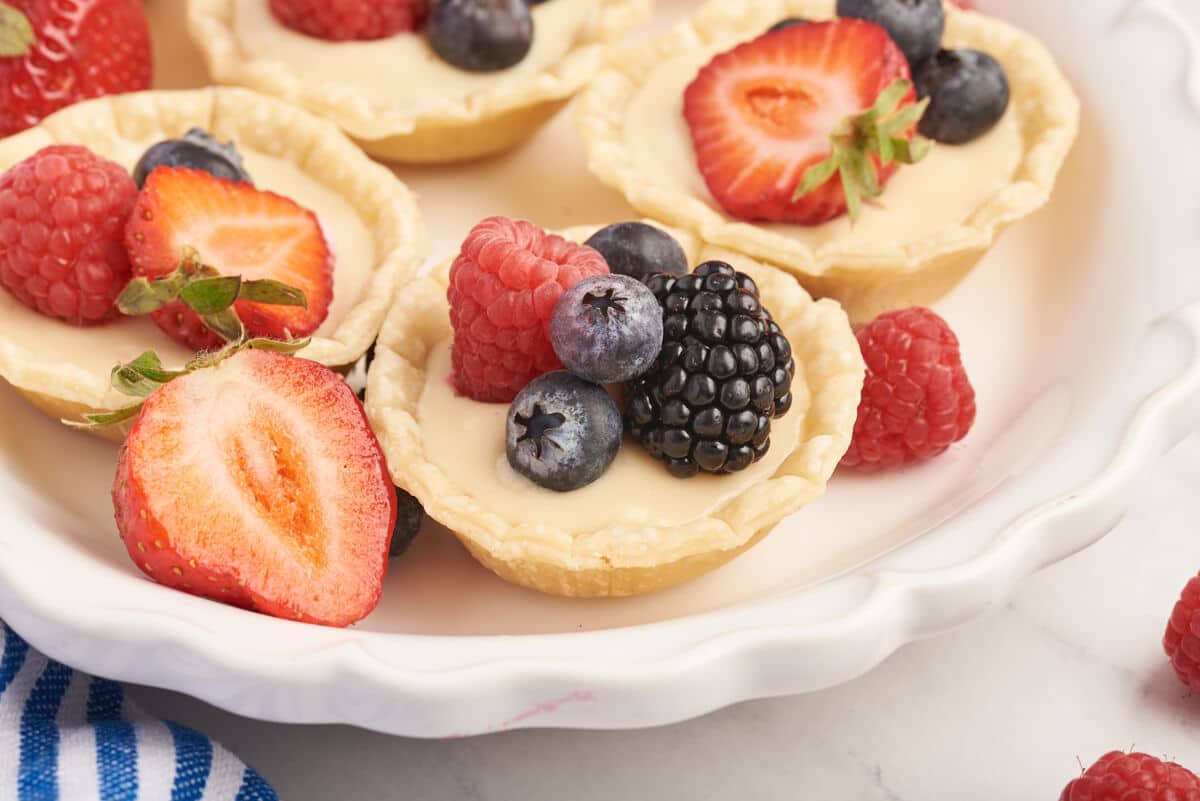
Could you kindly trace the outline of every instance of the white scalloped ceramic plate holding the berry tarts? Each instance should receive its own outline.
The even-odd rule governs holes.
[[[660,724],[812,691],[979,614],[1103,536],[1145,465],[1200,426],[1200,305],[1162,313],[1200,299],[1200,44],[1183,26],[1187,0],[1175,4],[988,4],[1048,41],[1085,115],[1051,206],[938,307],[980,408],[949,456],[838,475],[727,567],[642,598],[508,586],[430,526],[379,609],[336,631],[143,579],[112,523],[113,447],[4,390],[0,616],[55,658],[242,715],[454,736]],[[163,83],[190,85],[178,6],[148,7],[160,52],[173,53]],[[660,23],[686,4],[664,6]],[[402,175],[422,195],[434,259],[486,213],[554,228],[632,216],[587,175],[566,118],[508,157]]]

